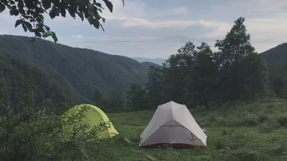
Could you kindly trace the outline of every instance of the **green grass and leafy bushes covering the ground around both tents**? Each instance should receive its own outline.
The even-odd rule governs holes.
[[[1,79],[0,104],[6,112],[0,119],[0,160],[286,160],[284,99],[229,101],[209,109],[192,109],[201,128],[208,129],[208,148],[139,149],[139,136],[155,111],[108,114],[120,133],[108,140],[97,138],[101,126],[85,133],[87,125],[80,124],[67,133],[63,127],[77,124],[72,120],[81,119],[81,111],[63,122],[63,111],[56,114],[57,108],[49,100],[30,108],[35,104],[29,74],[24,82],[28,83],[23,94],[26,100],[17,115],[10,105],[10,90]],[[69,107],[72,105],[61,109]],[[279,151],[270,150],[273,147],[280,147]]]

